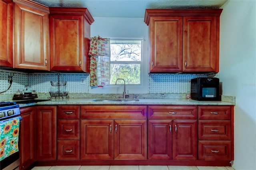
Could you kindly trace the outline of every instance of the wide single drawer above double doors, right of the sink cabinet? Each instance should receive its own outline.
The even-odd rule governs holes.
[[[186,106],[148,106],[148,119],[197,119],[197,107]]]

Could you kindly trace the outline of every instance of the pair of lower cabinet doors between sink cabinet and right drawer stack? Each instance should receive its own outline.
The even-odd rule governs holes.
[[[149,120],[148,159],[197,159],[197,120]]]

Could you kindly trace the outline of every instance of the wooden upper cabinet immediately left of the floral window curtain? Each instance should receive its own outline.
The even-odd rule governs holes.
[[[50,8],[50,70],[90,72],[87,8]]]

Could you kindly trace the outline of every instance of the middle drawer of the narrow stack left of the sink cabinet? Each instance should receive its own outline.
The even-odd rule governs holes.
[[[58,140],[79,139],[79,120],[58,120]]]

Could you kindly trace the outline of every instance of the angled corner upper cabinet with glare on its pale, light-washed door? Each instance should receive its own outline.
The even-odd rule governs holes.
[[[48,70],[49,9],[30,0],[13,0],[15,68]]]

